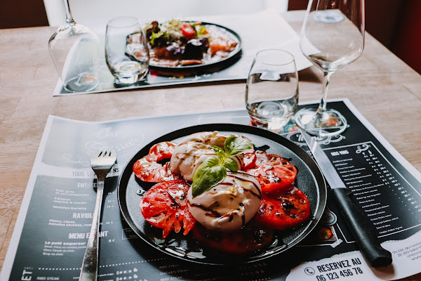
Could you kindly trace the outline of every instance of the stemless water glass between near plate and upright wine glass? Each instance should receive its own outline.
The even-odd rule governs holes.
[[[277,49],[259,51],[246,84],[251,122],[269,131],[283,129],[297,110],[298,72],[294,56]]]

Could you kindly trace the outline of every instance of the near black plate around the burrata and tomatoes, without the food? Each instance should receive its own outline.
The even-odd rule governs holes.
[[[294,230],[276,231],[276,239],[270,247],[249,256],[236,256],[235,259],[232,259],[232,256],[227,256],[226,254],[218,254],[209,249],[202,249],[193,235],[190,234],[184,236],[182,233],[171,233],[165,240],[162,240],[162,230],[147,223],[140,212],[139,202],[141,197],[138,195],[138,192],[147,190],[152,185],[139,181],[138,178],[136,178],[135,174],[133,174],[133,164],[141,157],[147,155],[149,148],[155,143],[160,143],[162,141],[178,142],[182,138],[185,138],[185,136],[201,131],[220,131],[221,133],[241,134],[242,136],[249,138],[256,147],[267,145],[269,147],[267,152],[291,159],[290,162],[298,169],[295,185],[305,192],[310,202],[312,211],[311,220]],[[310,233],[321,218],[326,206],[326,183],[319,167],[312,157],[307,155],[300,147],[276,133],[252,126],[205,124],[167,133],[165,136],[157,138],[155,141],[146,145],[145,148],[142,148],[142,150],[128,162],[121,174],[118,187],[118,200],[121,214],[132,230],[142,238],[142,240],[145,240],[145,242],[163,253],[196,263],[222,265],[227,262],[233,263],[234,260],[239,263],[248,263],[280,254],[293,247]]]

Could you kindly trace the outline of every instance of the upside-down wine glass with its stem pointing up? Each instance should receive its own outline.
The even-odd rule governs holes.
[[[98,36],[74,22],[65,0],[66,22],[48,41],[48,50],[64,88],[69,92],[91,91],[98,86]]]

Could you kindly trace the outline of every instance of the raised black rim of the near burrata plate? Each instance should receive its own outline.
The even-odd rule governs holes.
[[[218,129],[215,129],[215,128],[218,128]],[[278,143],[279,145],[287,148],[288,150],[293,152],[295,155],[298,155],[299,157],[300,157],[300,155],[305,155],[305,158],[307,158],[309,163],[307,163],[307,161],[305,161],[305,159],[302,159],[302,157],[300,157],[300,159],[302,159],[302,161],[305,162],[305,164],[307,164],[307,166],[309,166],[309,168],[311,169],[312,175],[314,176],[316,185],[318,187],[317,201],[319,202],[319,204],[318,204],[318,206],[316,206],[314,214],[312,214],[312,218],[310,218],[310,220],[307,221],[307,225],[293,239],[293,242],[288,244],[286,247],[282,247],[280,251],[275,250],[274,253],[272,253],[270,255],[266,255],[266,256],[265,255],[258,255],[258,256],[255,256],[253,259],[240,259],[241,260],[240,263],[251,263],[251,262],[255,262],[255,261],[260,261],[262,259],[268,259],[272,256],[277,256],[277,255],[283,253],[284,251],[292,248],[293,246],[295,246],[295,244],[298,244],[299,242],[301,242],[305,237],[307,237],[307,235],[309,233],[312,232],[312,230],[316,227],[317,223],[319,223],[319,221],[321,219],[321,216],[323,215],[323,211],[326,209],[327,192],[328,192],[326,180],[325,180],[321,170],[319,169],[319,165],[316,164],[314,159],[312,159],[312,157],[310,157],[307,154],[307,152],[305,152],[305,150],[300,148],[300,146],[293,143],[293,141],[290,141],[286,138],[283,138],[283,136],[281,136],[279,134],[272,133],[270,131],[260,129],[260,128],[257,128],[257,127],[254,127],[254,126],[247,126],[247,125],[242,125],[242,124],[212,123],[212,124],[199,124],[199,125],[194,125],[194,126],[187,126],[185,128],[177,129],[177,130],[171,131],[169,133],[166,133],[163,136],[159,136],[158,138],[155,138],[154,140],[150,141],[147,145],[142,146],[142,148],[140,148],[140,150],[138,150],[138,152],[136,152],[135,155],[133,155],[133,157],[131,157],[131,159],[128,160],[128,162],[124,166],[123,171],[121,172],[121,176],[119,177],[118,185],[117,185],[117,201],[119,203],[120,214],[123,217],[124,221],[126,221],[128,226],[131,228],[131,230],[133,230],[133,232],[143,242],[146,242],[147,244],[152,246],[154,249],[157,249],[157,250],[161,251],[162,253],[167,254],[168,256],[173,256],[173,257],[181,259],[183,261],[189,261],[189,262],[192,262],[192,263],[200,263],[200,264],[207,264],[207,265],[215,265],[215,266],[224,266],[224,265],[227,264],[225,262],[209,262],[209,261],[203,261],[201,259],[193,259],[193,258],[189,259],[186,256],[179,256],[177,254],[171,253],[170,251],[165,251],[164,249],[159,247],[157,244],[154,244],[149,239],[143,237],[145,234],[142,233],[142,231],[140,229],[138,229],[138,227],[135,225],[133,219],[131,218],[130,214],[128,214],[129,212],[128,212],[128,207],[127,207],[125,191],[127,189],[128,181],[130,180],[131,176],[133,176],[133,167],[132,167],[133,163],[131,163],[131,162],[133,162],[134,159],[136,159],[135,161],[137,161],[137,159],[139,159],[139,157],[140,157],[140,155],[139,155],[140,152],[142,150],[145,150],[146,148],[150,148],[155,143],[159,143],[159,142],[162,142],[162,141],[171,141],[175,138],[188,136],[191,133],[196,133],[196,132],[200,132],[200,131],[231,131],[231,132],[236,132],[236,133],[249,133],[249,134],[252,134],[252,135],[255,135],[255,136],[268,138],[270,141],[274,141],[275,143]],[[187,133],[185,133],[185,132],[187,132]],[[173,135],[176,135],[176,136],[173,136]],[[169,138],[171,138],[171,139],[169,139]],[[279,141],[276,141],[276,139],[281,140],[283,143],[287,143],[288,146],[283,145],[283,143],[279,143]],[[293,150],[289,146],[292,147]],[[295,150],[298,150],[299,154]],[[310,167],[310,165],[312,167]],[[129,170],[130,170],[130,172],[128,172]],[[316,172],[316,174],[314,174],[314,172]],[[128,175],[126,176],[126,174],[128,174]],[[125,178],[127,178],[126,186],[123,188],[123,190],[121,190],[121,184],[122,184],[123,179],[125,179]],[[124,202],[122,202],[122,199],[124,199]],[[123,206],[123,203],[124,203],[125,206]]]

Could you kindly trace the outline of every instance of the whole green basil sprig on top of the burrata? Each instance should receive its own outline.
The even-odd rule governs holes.
[[[196,197],[206,190],[222,182],[229,171],[238,171],[239,166],[232,156],[239,155],[253,148],[253,143],[246,138],[229,136],[224,143],[224,150],[211,145],[216,157],[208,157],[194,172],[192,183],[192,195]]]

